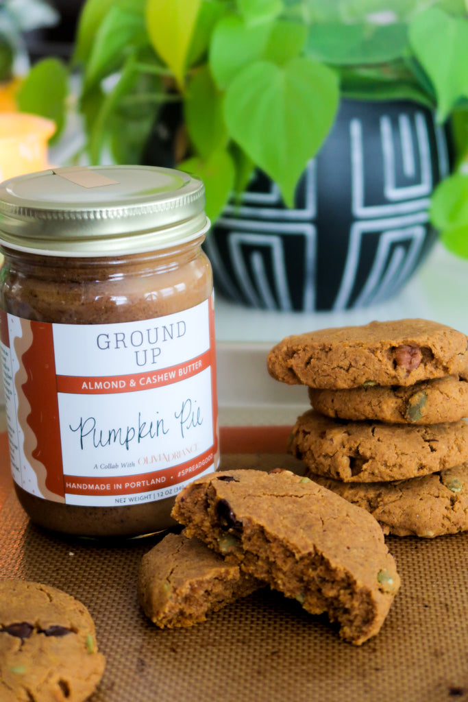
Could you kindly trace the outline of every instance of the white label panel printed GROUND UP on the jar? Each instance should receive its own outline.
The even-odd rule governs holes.
[[[210,300],[158,319],[123,324],[54,324],[58,376],[123,376],[168,368],[210,344]]]

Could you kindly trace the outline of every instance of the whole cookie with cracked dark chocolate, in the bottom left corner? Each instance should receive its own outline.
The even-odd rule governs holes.
[[[81,602],[48,585],[0,581],[1,702],[82,702],[104,667]]]

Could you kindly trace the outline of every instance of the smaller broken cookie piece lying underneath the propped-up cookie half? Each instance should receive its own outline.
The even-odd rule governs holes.
[[[191,626],[262,585],[198,538],[167,534],[142,557],[138,599],[156,626]]]

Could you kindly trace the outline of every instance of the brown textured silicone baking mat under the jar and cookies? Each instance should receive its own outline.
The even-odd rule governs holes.
[[[223,467],[300,471],[284,453],[253,453],[281,436],[276,428],[231,432],[225,449],[250,453],[224,453]],[[157,537],[109,544],[41,531],[11,489],[5,437],[0,450],[0,578],[55,585],[86,604],[107,658],[91,702],[468,700],[468,534],[387,539],[401,590],[380,633],[361,647],[269,590],[206,623],[159,630],[135,588]]]

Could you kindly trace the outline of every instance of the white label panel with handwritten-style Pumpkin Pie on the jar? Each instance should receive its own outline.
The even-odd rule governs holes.
[[[59,393],[58,406],[65,475],[140,475],[187,463],[213,446],[210,368],[151,390]]]

